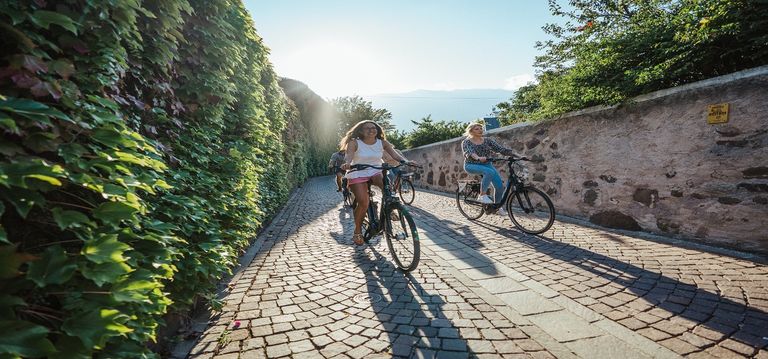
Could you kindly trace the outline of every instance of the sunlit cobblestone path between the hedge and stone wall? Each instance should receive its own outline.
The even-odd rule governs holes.
[[[352,245],[330,177],[298,189],[229,284],[193,358],[768,358],[762,257],[556,221],[525,235],[411,207],[422,260],[395,269],[382,238]],[[705,249],[705,250],[702,250]]]

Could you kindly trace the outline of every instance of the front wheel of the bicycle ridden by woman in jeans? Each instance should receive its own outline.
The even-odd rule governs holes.
[[[555,222],[552,200],[533,187],[513,192],[507,200],[507,213],[515,227],[529,234],[544,233]]]

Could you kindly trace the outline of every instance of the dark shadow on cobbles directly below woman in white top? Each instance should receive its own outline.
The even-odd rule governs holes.
[[[439,294],[429,294],[418,279],[403,273],[379,252],[383,238],[377,237],[366,251],[355,255],[355,262],[365,273],[369,302],[376,313],[394,357],[428,357],[454,355],[468,350],[466,340],[460,338],[459,329],[447,318],[446,301]],[[455,310],[458,310],[456,308]],[[383,336],[379,336],[383,340]],[[440,348],[450,351],[439,351]],[[437,353],[434,353],[437,351]]]

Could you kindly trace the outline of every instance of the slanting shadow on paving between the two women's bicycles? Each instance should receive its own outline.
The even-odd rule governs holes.
[[[456,267],[459,269],[474,268],[487,275],[499,274],[499,270],[490,258],[482,255],[480,252],[476,252],[474,256],[469,255],[463,250],[456,248],[453,244],[450,244],[450,241],[444,239],[445,236],[450,236],[454,240],[459,240],[473,249],[485,247],[485,244],[478,240],[478,235],[474,233],[470,226],[437,217],[429,211],[417,207],[409,207],[408,210],[416,217],[416,226],[420,232],[424,232],[432,242],[447,250],[450,253],[448,257],[456,258],[463,262],[461,265],[456,265]],[[419,224],[427,225],[420,226]],[[439,224],[439,226],[435,227],[435,224]],[[440,254],[438,253],[438,255]]]

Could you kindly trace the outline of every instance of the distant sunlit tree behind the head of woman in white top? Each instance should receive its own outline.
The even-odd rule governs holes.
[[[390,133],[395,126],[392,125],[392,114],[386,109],[373,108],[371,101],[366,101],[360,96],[338,97],[331,100],[331,105],[339,115],[339,139],[360,121],[374,121],[381,126],[385,133]]]

